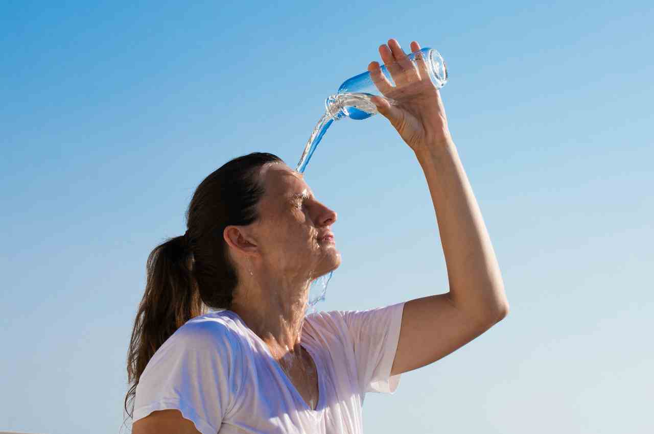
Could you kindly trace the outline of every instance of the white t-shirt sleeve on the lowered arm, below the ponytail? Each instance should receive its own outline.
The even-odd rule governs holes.
[[[222,322],[194,318],[163,342],[136,388],[134,422],[177,409],[202,434],[216,434],[237,395],[238,342]]]

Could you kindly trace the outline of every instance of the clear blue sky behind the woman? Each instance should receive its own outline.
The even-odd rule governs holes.
[[[118,433],[150,250],[228,159],[294,167],[324,98],[390,37],[447,61],[511,312],[369,394],[366,432],[654,431],[654,9],[528,3],[4,2],[0,431]],[[339,216],[320,309],[447,292],[421,167],[387,120],[336,122],[306,179]]]

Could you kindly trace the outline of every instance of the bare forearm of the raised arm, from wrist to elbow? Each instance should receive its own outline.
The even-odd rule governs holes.
[[[434,203],[453,304],[474,318],[500,320],[509,307],[504,282],[454,142],[424,146],[416,157]]]

